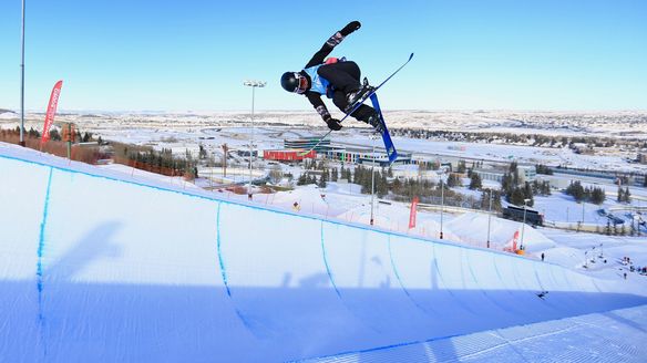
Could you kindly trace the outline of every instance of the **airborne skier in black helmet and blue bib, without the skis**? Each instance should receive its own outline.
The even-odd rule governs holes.
[[[332,98],[332,103],[343,113],[351,111],[358,100],[371,91],[370,86],[362,86],[361,72],[357,63],[342,59],[329,58],[335,46],[361,27],[359,21],[351,21],[343,29],[330,37],[321,49],[312,55],[312,59],[300,72],[286,72],[280,79],[284,90],[308,97],[317,113],[333,131],[341,129],[339,120],[332,118],[321,95]],[[382,132],[382,124],[374,108],[360,105],[351,114],[355,118],[373,126]]]

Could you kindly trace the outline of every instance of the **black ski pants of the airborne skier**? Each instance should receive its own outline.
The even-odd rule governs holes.
[[[361,71],[355,62],[324,64],[317,73],[330,82],[335,90],[332,103],[341,111],[345,111],[348,106],[347,95],[361,89]],[[362,104],[350,115],[368,123],[369,117],[374,113],[376,111],[372,107]]]

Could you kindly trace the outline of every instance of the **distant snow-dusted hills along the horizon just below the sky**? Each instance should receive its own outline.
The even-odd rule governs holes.
[[[331,108],[333,114],[337,110]],[[0,127],[18,122],[20,115],[0,112]],[[249,111],[230,112],[62,112],[61,122],[74,122],[83,129],[99,132],[115,127],[130,128],[206,128],[239,126],[249,122]],[[391,128],[442,131],[485,131],[545,135],[598,135],[645,137],[647,113],[618,112],[533,112],[533,111],[387,111]],[[28,128],[41,127],[42,113],[27,115]],[[319,115],[311,111],[257,111],[258,125],[320,127]],[[355,127],[362,124],[351,122]]]

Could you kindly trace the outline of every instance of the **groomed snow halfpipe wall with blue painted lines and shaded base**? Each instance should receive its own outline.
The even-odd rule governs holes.
[[[2,144],[0,170],[1,361],[330,357],[647,303],[636,284]]]

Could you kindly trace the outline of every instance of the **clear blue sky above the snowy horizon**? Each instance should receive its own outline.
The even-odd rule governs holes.
[[[278,80],[348,21],[332,53],[386,110],[647,110],[647,1],[132,1],[27,3],[28,110],[309,110]],[[20,0],[0,2],[0,108],[20,102]],[[331,105],[331,104],[330,104]],[[330,108],[332,108],[331,106]]]

